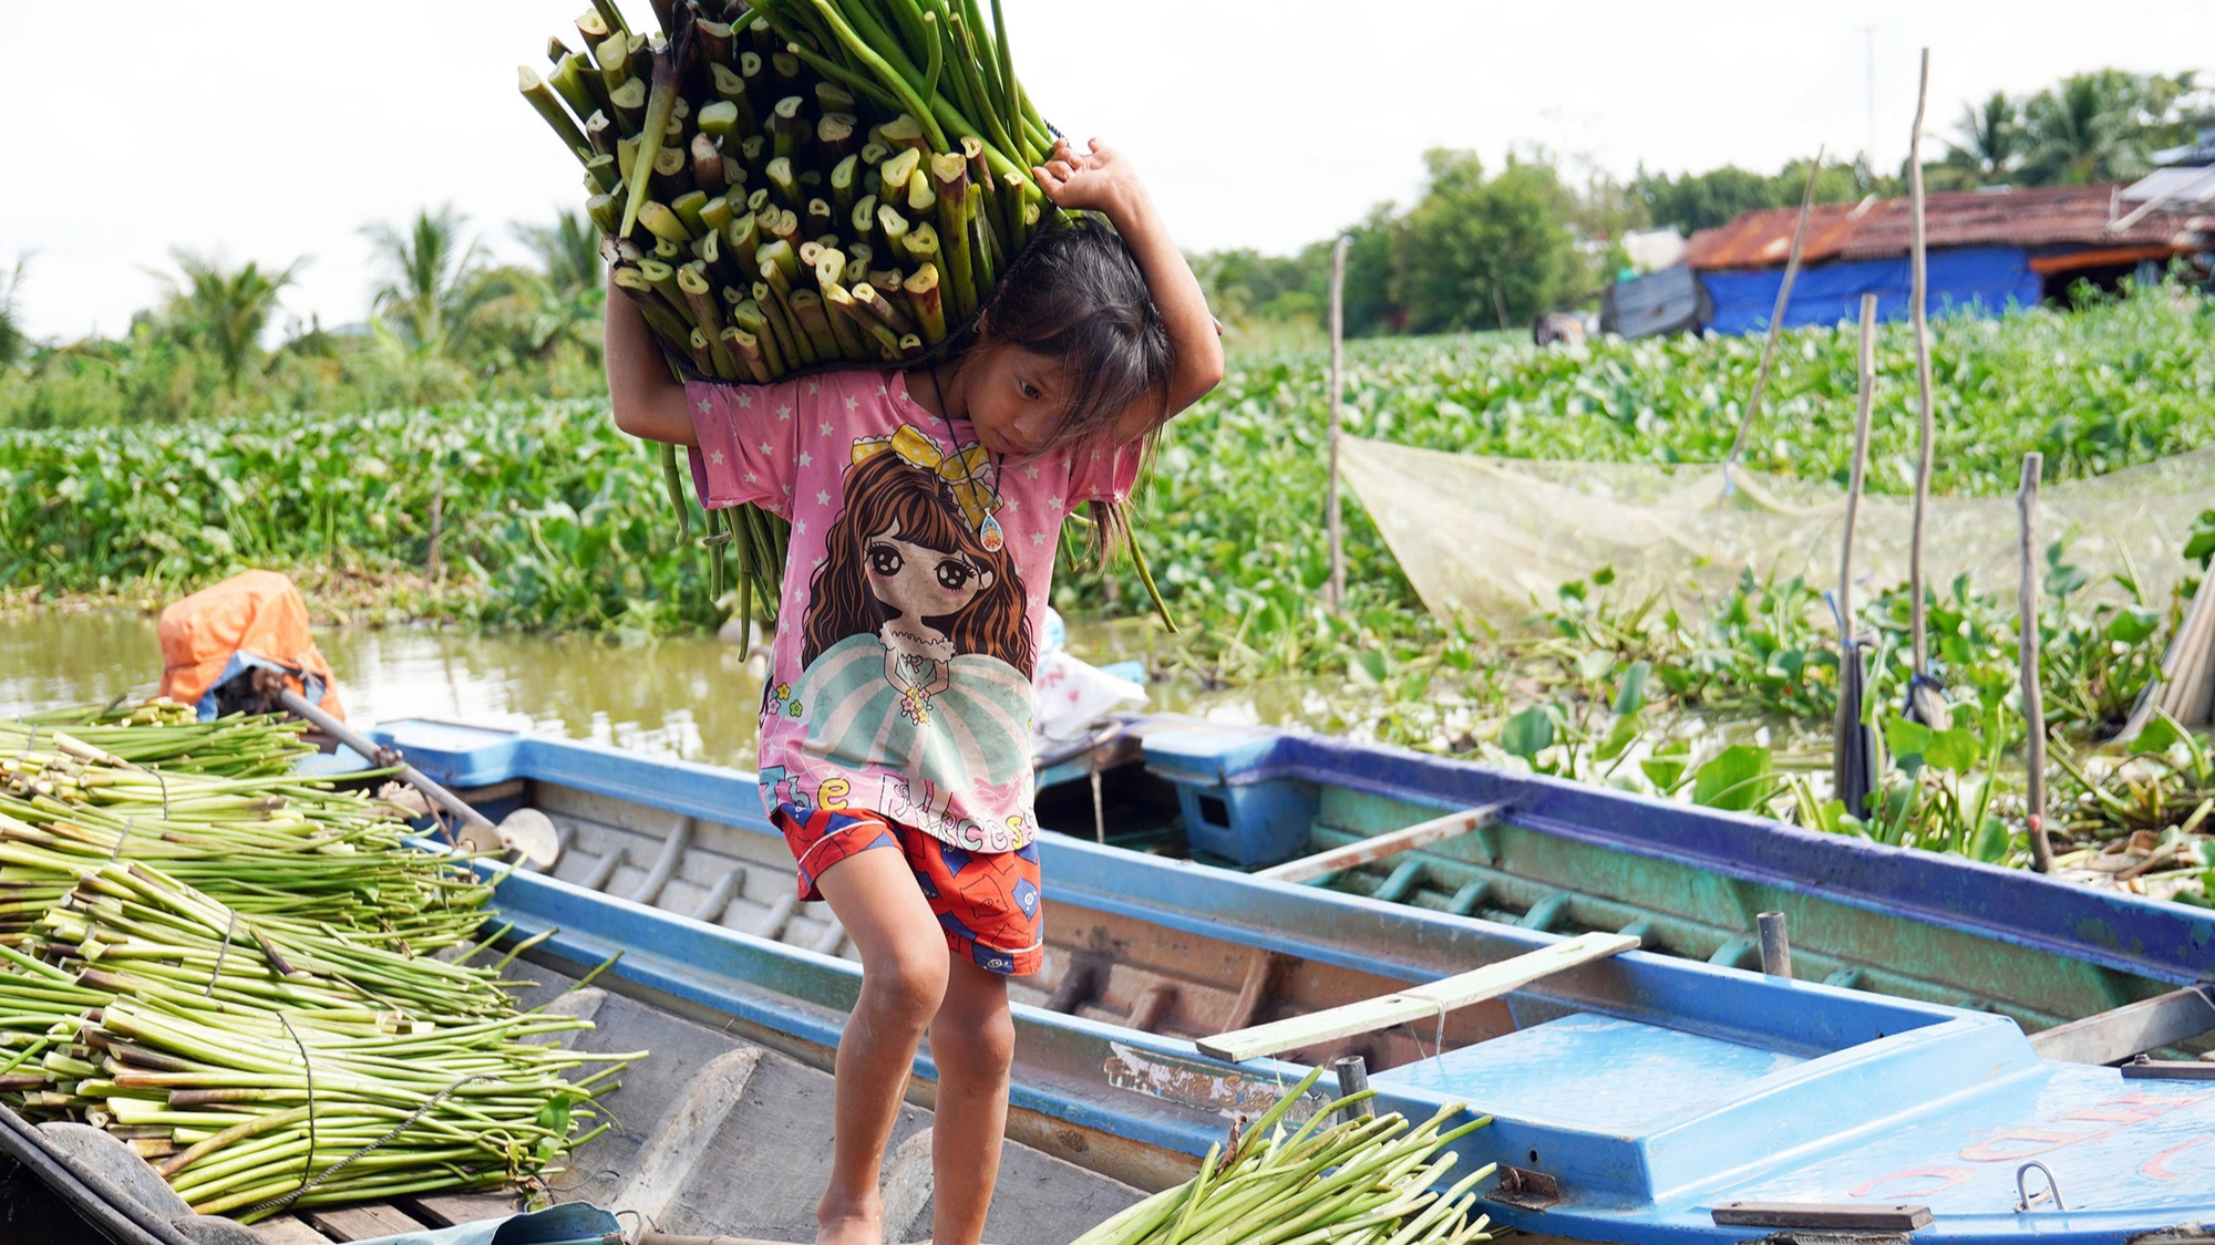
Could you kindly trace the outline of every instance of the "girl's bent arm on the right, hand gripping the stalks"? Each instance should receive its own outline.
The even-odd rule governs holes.
[[[1099,140],[1088,146],[1092,151],[1076,151],[1070,140],[1057,142],[1052,157],[1032,168],[1032,175],[1057,206],[1105,215],[1132,255],[1139,257],[1145,290],[1154,297],[1163,326],[1170,330],[1170,352],[1176,363],[1170,372],[1167,414],[1176,414],[1223,381],[1220,330],[1216,317],[1207,315],[1207,295],[1201,292],[1198,277],[1192,275],[1185,255],[1170,239],[1139,173]],[[1119,428],[1116,434],[1121,441],[1130,441],[1158,416],[1158,410],[1130,412],[1125,421],[1134,428]]]

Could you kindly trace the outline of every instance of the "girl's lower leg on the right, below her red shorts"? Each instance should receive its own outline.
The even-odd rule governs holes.
[[[930,1026],[939,1066],[939,1105],[930,1123],[933,1245],[977,1245],[999,1179],[999,1143],[1008,1132],[1008,1066],[1014,1019],[1008,979],[948,957],[946,1001]]]

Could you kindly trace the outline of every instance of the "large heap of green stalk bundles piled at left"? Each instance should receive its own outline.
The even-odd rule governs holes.
[[[244,1223],[529,1181],[607,1128],[596,1094],[642,1052],[547,1043],[591,1023],[516,1008],[527,942],[472,964],[505,930],[467,942],[490,886],[465,860],[323,784],[120,755],[197,724],[135,724],[117,751],[24,727],[0,727],[0,1101],[104,1128]],[[219,727],[264,727],[268,755],[297,740]]]

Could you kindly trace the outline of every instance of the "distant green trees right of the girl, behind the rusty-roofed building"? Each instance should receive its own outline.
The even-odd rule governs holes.
[[[2126,182],[2153,153],[2191,144],[2215,124],[2215,91],[2197,75],[2078,73],[2027,95],[1960,106],[1951,133],[1925,142],[1931,191]],[[1378,204],[1345,230],[1349,335],[1519,328],[1546,310],[1588,306],[1626,255],[1621,235],[1683,235],[1741,213],[1796,206],[1816,179],[1819,204],[1907,193],[1907,162],[1874,173],[1865,160],[1796,160],[1776,173],[1725,164],[1706,173],[1584,179],[1544,151],[1486,168],[1473,151],[1424,155],[1413,204]],[[1209,301],[1234,332],[1313,337],[1325,323],[1331,241],[1294,255],[1212,250],[1194,257]],[[1285,332],[1289,330],[1289,332]]]

